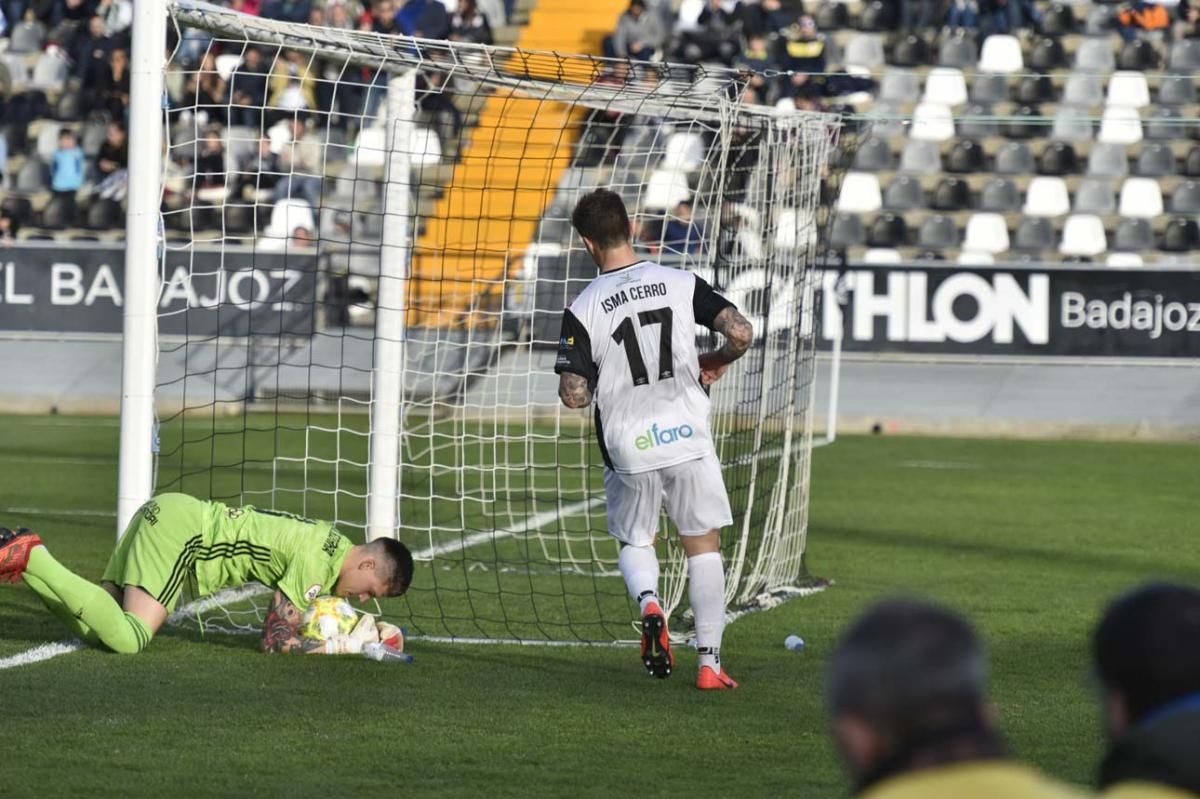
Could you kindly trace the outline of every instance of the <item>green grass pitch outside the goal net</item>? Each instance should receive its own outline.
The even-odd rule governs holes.
[[[98,577],[116,441],[110,419],[0,417],[0,523]],[[1184,444],[840,439],[815,455],[809,539],[835,585],[726,631],[730,695],[691,687],[690,651],[658,681],[629,649],[418,642],[413,666],[386,666],[186,630],[137,657],[0,671],[0,793],[841,797],[826,657],[899,593],[971,617],[1015,752],[1087,783],[1102,746],[1087,633],[1134,582],[1200,579],[1198,462]],[[793,632],[806,651],[784,648]],[[62,638],[32,593],[0,587],[0,659]]]

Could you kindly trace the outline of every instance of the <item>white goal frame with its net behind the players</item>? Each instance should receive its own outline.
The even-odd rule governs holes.
[[[120,525],[151,491],[329,518],[413,549],[413,588],[378,608],[413,635],[631,638],[593,422],[553,374],[595,274],[570,212],[602,186],[644,257],[702,275],[758,334],[712,395],[732,611],[814,588],[836,115],[756,106],[720,67],[157,5],[136,26]],[[208,602],[202,624],[257,627],[259,603]]]

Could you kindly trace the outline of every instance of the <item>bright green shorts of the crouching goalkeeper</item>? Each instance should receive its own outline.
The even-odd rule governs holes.
[[[155,497],[133,515],[101,579],[121,588],[137,585],[173,611],[194,573],[205,510],[205,503],[186,494]]]

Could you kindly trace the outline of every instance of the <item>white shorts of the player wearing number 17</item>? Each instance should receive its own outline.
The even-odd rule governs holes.
[[[608,531],[630,546],[654,543],[664,500],[680,535],[703,535],[733,523],[716,452],[638,474],[606,468],[604,489]]]

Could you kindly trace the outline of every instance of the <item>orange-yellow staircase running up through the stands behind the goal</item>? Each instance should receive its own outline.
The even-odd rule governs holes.
[[[599,53],[629,0],[538,0],[521,30],[522,50]],[[517,54],[509,71],[553,77],[557,59]],[[590,77],[574,62],[570,77]],[[503,302],[504,277],[520,266],[538,222],[570,164],[581,109],[498,90],[480,110],[445,193],[416,240],[409,324],[486,323]]]

